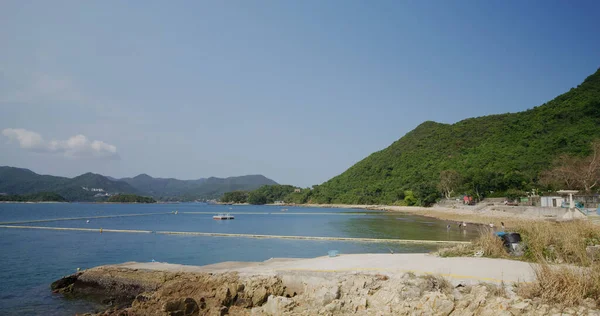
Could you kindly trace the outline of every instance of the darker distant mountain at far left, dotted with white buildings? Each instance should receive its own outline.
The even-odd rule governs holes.
[[[139,193],[123,181],[85,173],[75,178],[39,175],[29,169],[0,167],[0,193],[33,194],[54,192],[69,201],[95,201],[103,194]]]

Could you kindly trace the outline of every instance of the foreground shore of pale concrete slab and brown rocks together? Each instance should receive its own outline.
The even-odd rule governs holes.
[[[427,254],[356,254],[186,266],[127,262],[52,283],[54,293],[108,302],[96,315],[591,314],[516,293],[529,263]],[[572,310],[572,311],[571,311]]]

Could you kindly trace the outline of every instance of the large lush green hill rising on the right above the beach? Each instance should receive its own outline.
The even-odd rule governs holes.
[[[578,87],[519,113],[424,122],[311,192],[314,203],[391,204],[412,191],[421,204],[439,196],[440,172],[462,179],[456,193],[499,194],[538,187],[559,154],[587,155],[600,138],[600,70]],[[493,193],[492,193],[493,192]]]

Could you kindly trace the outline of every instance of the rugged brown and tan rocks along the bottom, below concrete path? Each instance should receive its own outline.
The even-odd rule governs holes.
[[[596,302],[560,308],[492,284],[436,276],[286,272],[278,275],[95,268],[53,290],[120,300],[99,315],[600,315]]]

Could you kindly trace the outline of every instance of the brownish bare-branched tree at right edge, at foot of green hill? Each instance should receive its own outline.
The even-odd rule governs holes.
[[[600,184],[600,140],[592,143],[588,156],[560,155],[554,161],[553,168],[542,173],[540,183],[592,192]]]

